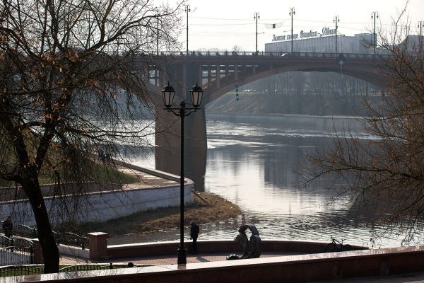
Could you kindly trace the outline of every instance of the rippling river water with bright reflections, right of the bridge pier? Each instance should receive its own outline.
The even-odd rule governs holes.
[[[329,204],[332,192],[324,190],[322,183],[298,189],[305,154],[315,147],[330,146],[329,132],[348,126],[363,139],[375,139],[361,133],[360,123],[307,117],[207,118],[204,190],[238,204],[243,215],[202,225],[201,239],[232,239],[238,226],[254,224],[263,239],[329,241],[334,236],[348,243],[372,246],[372,234],[365,225],[369,215],[353,211],[341,202]],[[148,160],[148,165],[152,166],[152,160]],[[146,165],[146,160],[139,163]],[[189,172],[187,175],[190,177]],[[178,236],[178,231],[173,231],[158,237],[177,240]],[[384,238],[376,241],[375,247],[400,243],[401,239]]]

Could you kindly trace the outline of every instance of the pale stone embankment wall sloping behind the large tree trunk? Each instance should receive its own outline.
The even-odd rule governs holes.
[[[66,202],[68,207],[75,207],[73,212],[80,223],[102,222],[143,212],[158,207],[179,205],[179,185],[167,187],[148,187],[90,192],[81,197],[67,195],[58,200],[46,197],[45,204],[50,214],[53,226],[66,221],[60,202]],[[194,202],[193,182],[188,180],[184,185],[184,201]],[[15,224],[35,226],[35,219],[30,203],[25,200],[0,202],[0,215],[12,215]]]

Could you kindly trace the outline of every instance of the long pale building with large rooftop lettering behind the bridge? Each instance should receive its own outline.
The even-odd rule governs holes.
[[[373,49],[367,47],[372,44],[372,39],[372,33],[337,35],[337,53],[372,53]],[[272,42],[265,44],[265,52],[291,52],[291,44],[291,34],[273,35]],[[322,28],[322,33],[301,30],[293,34],[293,52],[335,53],[336,30]]]

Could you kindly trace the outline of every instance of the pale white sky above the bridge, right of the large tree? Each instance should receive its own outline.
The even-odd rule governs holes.
[[[373,30],[374,11],[379,13],[377,29],[379,26],[390,28],[405,3],[404,0],[189,0],[189,50],[232,50],[234,45],[239,45],[245,51],[254,51],[255,12],[259,12],[258,50],[263,51],[273,34],[290,34],[290,7],[295,8],[293,33],[300,30],[321,33],[322,28],[334,28],[334,16],[338,16],[338,33],[354,35]],[[406,10],[411,33],[418,34],[418,21],[424,21],[424,0],[410,0]],[[182,50],[186,49],[186,15],[184,13],[180,37]],[[283,26],[266,27],[272,23],[283,23]]]

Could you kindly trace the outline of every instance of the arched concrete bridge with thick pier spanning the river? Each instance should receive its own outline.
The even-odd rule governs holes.
[[[316,52],[163,52],[160,67],[145,70],[156,93],[156,168],[179,171],[179,117],[165,114],[160,90],[167,82],[176,96],[189,101],[188,93],[196,83],[204,89],[202,108],[237,86],[286,71],[320,71],[346,74],[384,88],[384,62],[389,56],[375,54],[336,54]],[[177,100],[177,99],[176,99]],[[179,101],[176,101],[177,105]],[[158,115],[161,113],[160,115]],[[162,114],[163,113],[163,114]],[[184,145],[196,158],[193,168],[206,168],[206,117],[200,110],[184,121]],[[171,153],[173,152],[173,154]],[[187,150],[185,150],[187,152]],[[172,157],[171,157],[172,156]],[[192,166],[188,166],[192,167]],[[178,171],[175,170],[178,169]],[[185,170],[190,171],[190,168]],[[196,182],[196,180],[194,180]]]

